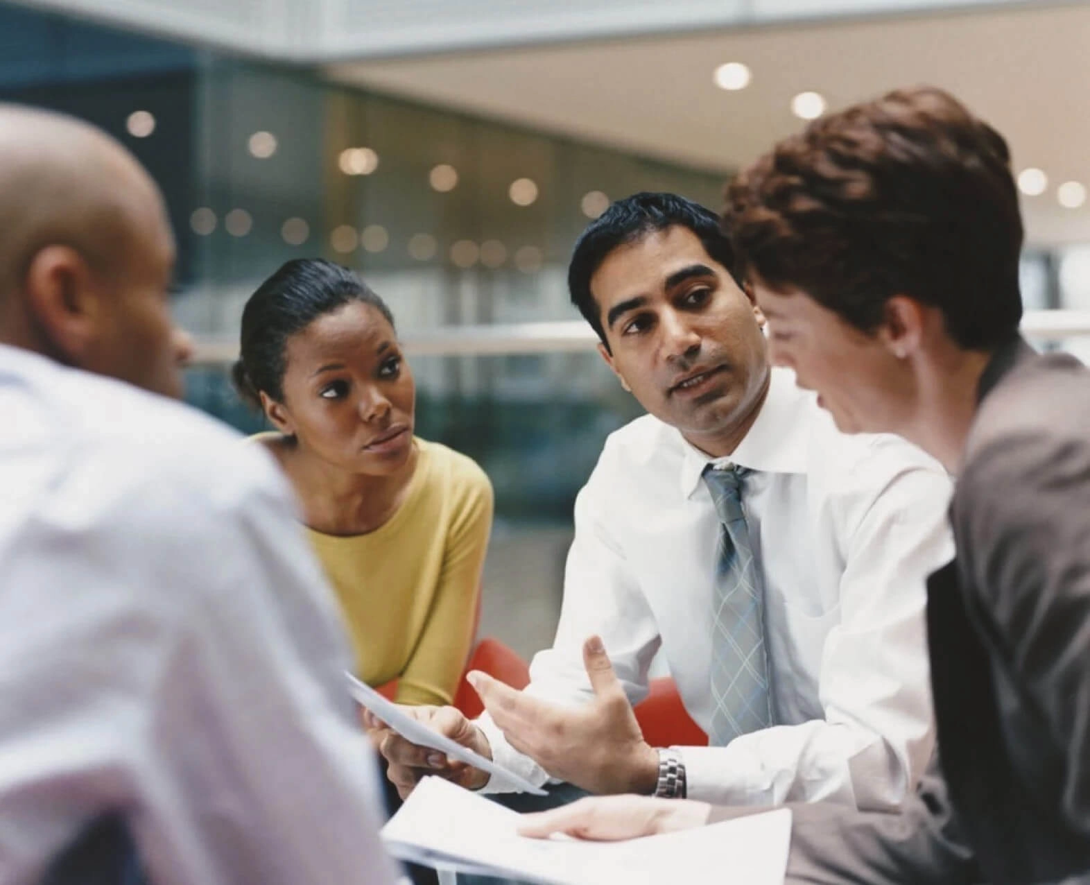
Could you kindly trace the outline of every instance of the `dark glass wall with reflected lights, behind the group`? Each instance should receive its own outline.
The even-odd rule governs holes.
[[[69,111],[133,149],[162,187],[178,234],[179,317],[207,345],[222,342],[222,353],[256,284],[299,256],[360,270],[403,334],[578,319],[566,264],[590,218],[640,190],[717,207],[727,172],[2,2],[0,100]],[[1090,246],[1028,251],[1022,283],[1030,310],[1090,310]],[[1059,343],[1087,357],[1088,342]],[[193,368],[189,398],[256,431],[262,421],[227,368]],[[606,435],[639,408],[591,349],[417,356],[413,368],[420,434],[476,459],[496,488],[486,586],[499,607],[486,598],[484,629],[501,625],[529,653],[550,639],[576,493]],[[505,609],[510,599],[518,606]]]

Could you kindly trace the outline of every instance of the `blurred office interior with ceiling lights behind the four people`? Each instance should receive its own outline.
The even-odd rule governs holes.
[[[953,90],[1009,140],[1027,331],[1090,356],[1090,5],[936,0],[0,0],[0,100],[93,121],[164,189],[197,407],[246,296],[323,255],[390,303],[420,435],[496,488],[482,634],[525,655],[558,614],[571,508],[639,414],[569,305],[571,245],[613,198],[713,208],[825,108]]]

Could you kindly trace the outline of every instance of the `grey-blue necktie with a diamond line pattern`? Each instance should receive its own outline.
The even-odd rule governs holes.
[[[708,466],[703,476],[720,523],[712,637],[715,711],[708,742],[713,747],[772,725],[764,595],[741,502],[743,478],[750,472]]]

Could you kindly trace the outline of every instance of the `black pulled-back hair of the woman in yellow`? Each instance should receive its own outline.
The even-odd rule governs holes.
[[[239,396],[258,409],[263,390],[282,401],[288,339],[353,301],[370,304],[393,325],[386,302],[347,267],[324,258],[294,258],[281,265],[242,311],[241,359],[231,369]]]

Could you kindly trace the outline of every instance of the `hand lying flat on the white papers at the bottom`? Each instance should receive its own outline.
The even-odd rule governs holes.
[[[635,839],[703,826],[711,810],[706,802],[688,799],[592,796],[552,811],[522,815],[519,833],[536,839],[554,833],[596,841]]]

